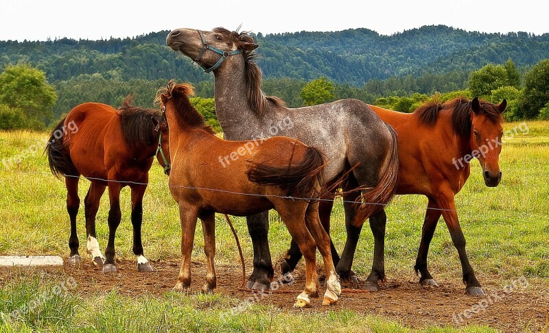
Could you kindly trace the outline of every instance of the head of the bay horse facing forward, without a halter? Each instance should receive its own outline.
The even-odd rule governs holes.
[[[486,186],[495,187],[500,184],[502,172],[499,156],[502,151],[502,121],[501,114],[505,111],[507,101],[495,105],[487,101],[479,101],[475,97],[471,101],[469,114],[471,119],[471,150],[478,158],[482,167],[482,176]]]

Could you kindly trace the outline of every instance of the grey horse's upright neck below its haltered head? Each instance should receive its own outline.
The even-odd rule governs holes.
[[[214,71],[215,113],[229,140],[246,140],[259,133],[259,116],[250,108],[244,58],[231,57]]]

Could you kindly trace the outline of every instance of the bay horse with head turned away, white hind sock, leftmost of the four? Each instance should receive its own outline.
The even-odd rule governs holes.
[[[159,134],[154,130],[154,122],[158,123],[160,116],[158,110],[132,107],[130,97],[119,110],[102,103],[82,103],[61,119],[51,132],[46,147],[49,168],[54,175],[64,176],[67,186],[67,211],[71,220],[69,263],[80,262],[76,215],[80,207],[78,182],[83,175],[91,182],[84,199],[84,212],[86,247],[93,262],[102,265],[104,273],[116,271],[115,233],[121,219],[120,190],[130,186],[133,252],[137,256],[137,268],[139,271],[152,271],[141,245],[142,202],[155,155],[165,167],[165,160],[159,156],[161,149],[157,151]],[[97,243],[95,215],[107,186],[110,210],[105,258]]]

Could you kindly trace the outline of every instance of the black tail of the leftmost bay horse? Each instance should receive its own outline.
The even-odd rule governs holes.
[[[69,151],[65,143],[63,143],[63,126],[65,125],[65,116],[59,121],[51,134],[49,135],[49,140],[46,144],[45,153],[47,153],[47,162],[49,164],[49,170],[56,177],[60,178],[64,175],[79,175],[78,170],[71,160]]]

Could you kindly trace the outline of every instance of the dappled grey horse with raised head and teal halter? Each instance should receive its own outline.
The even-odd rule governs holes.
[[[281,99],[264,95],[261,70],[254,62],[253,50],[259,45],[245,32],[224,28],[212,32],[176,29],[168,34],[166,42],[207,73],[213,72],[215,112],[226,139],[289,136],[301,140],[323,154],[326,182],[334,182],[352,169],[343,183],[348,235],[358,238],[366,217],[392,199],[399,169],[396,134],[366,103],[342,99],[306,108],[287,108]],[[220,156],[219,162],[231,167],[229,156]],[[358,187],[362,190],[351,191]],[[361,206],[355,204],[357,200],[369,203],[362,206],[364,214],[360,213]],[[246,221],[254,250],[254,269],[246,286],[268,288],[274,276],[267,239],[268,212],[247,217]],[[355,246],[355,240],[348,238],[346,249]],[[334,250],[332,246],[332,253]],[[351,267],[353,258],[346,260],[349,262],[340,260],[338,267]],[[349,271],[337,267],[336,271],[349,275]]]

